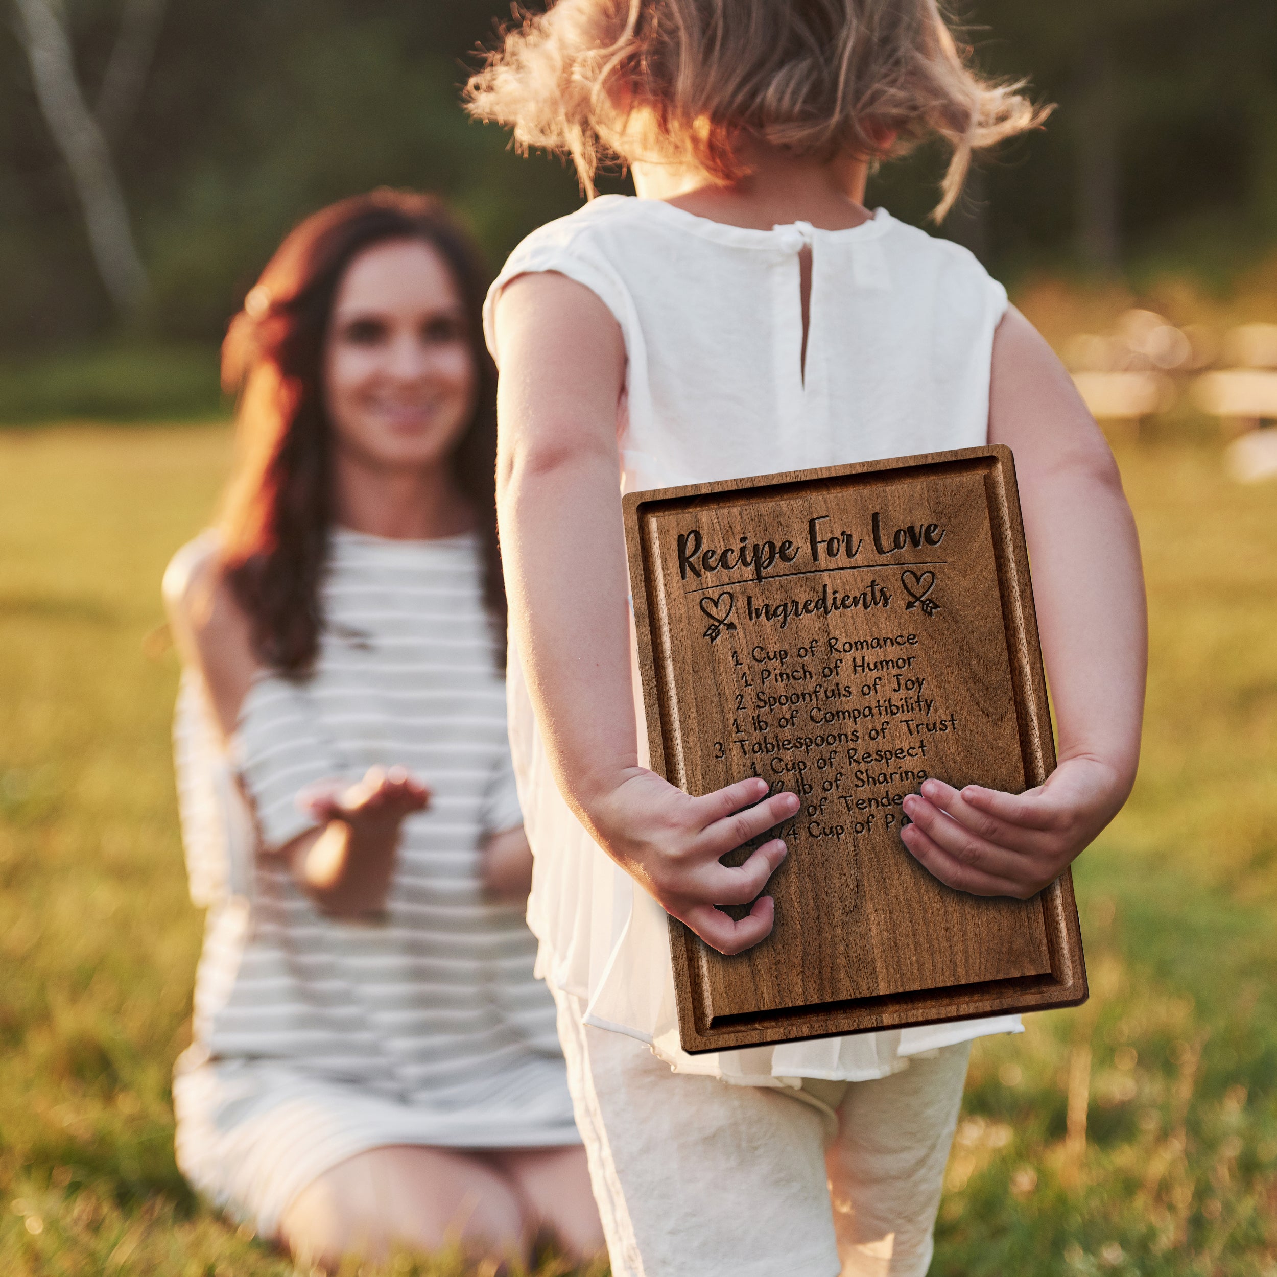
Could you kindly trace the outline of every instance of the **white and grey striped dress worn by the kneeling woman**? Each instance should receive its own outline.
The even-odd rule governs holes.
[[[322,605],[314,676],[259,676],[230,757],[194,672],[175,722],[192,894],[208,908],[178,1158],[264,1235],[369,1148],[578,1143],[535,941],[481,886],[483,842],[522,817],[478,539],[335,530]],[[374,764],[407,767],[430,806],[404,822],[384,921],[335,921],[262,849],[313,827],[301,788]]]

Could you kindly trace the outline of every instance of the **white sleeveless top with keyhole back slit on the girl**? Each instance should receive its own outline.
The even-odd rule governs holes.
[[[812,252],[806,375],[799,250]],[[725,226],[660,200],[608,195],[534,231],[488,295],[557,271],[594,291],[624,335],[618,414],[624,492],[979,447],[1006,292],[968,253],[879,209],[852,230]],[[681,1073],[755,1085],[866,1080],[911,1055],[1019,1016],[688,1056],[678,1046],[664,911],[593,842],[554,785],[517,653],[511,746],[535,854],[527,921],[538,971],[586,1023],[653,1043]],[[640,757],[646,761],[635,661]]]

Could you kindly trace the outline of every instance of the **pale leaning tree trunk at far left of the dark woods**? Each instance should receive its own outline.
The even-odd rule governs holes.
[[[70,170],[93,261],[116,310],[132,315],[146,296],[147,275],[133,243],[110,147],[84,103],[70,41],[49,0],[15,0],[15,4],[36,100]]]

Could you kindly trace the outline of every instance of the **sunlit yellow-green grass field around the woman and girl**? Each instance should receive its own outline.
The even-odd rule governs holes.
[[[227,458],[221,428],[0,434],[4,1277],[290,1271],[171,1148],[200,918],[158,581]],[[1231,485],[1204,446],[1120,460],[1153,608],[1144,766],[1077,866],[1091,1002],[977,1046],[942,1277],[1277,1274],[1277,487]]]

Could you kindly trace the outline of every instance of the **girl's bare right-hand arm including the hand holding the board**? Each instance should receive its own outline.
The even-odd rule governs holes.
[[[927,780],[909,850],[942,882],[1027,898],[1121,808],[1135,780],[1147,624],[1139,540],[1108,444],[1016,310],[994,340],[990,442],[1015,453],[1042,650],[1060,738],[1045,785],[1013,796]]]

